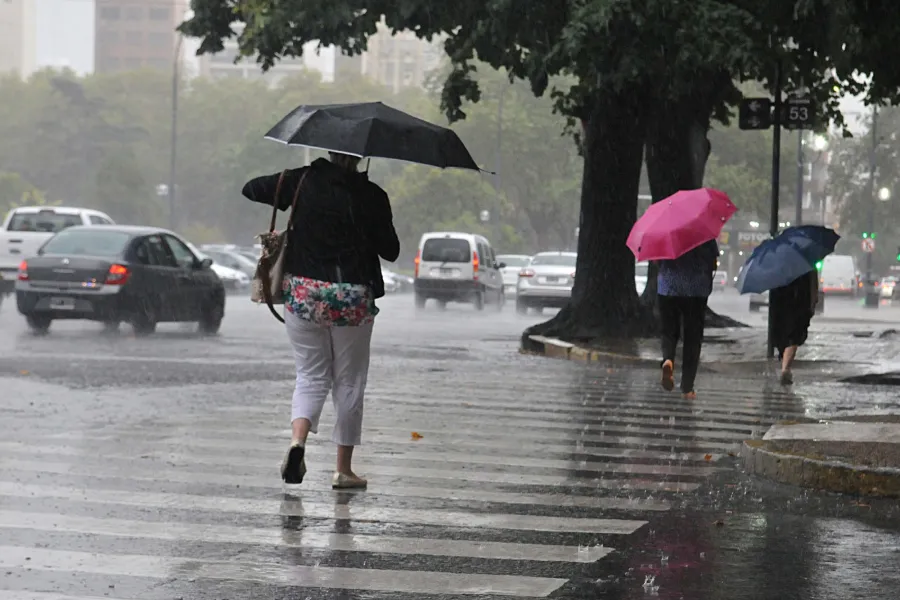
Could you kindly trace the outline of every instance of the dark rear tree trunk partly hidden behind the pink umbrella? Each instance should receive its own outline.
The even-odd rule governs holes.
[[[656,105],[648,121],[646,134],[647,177],[653,202],[679,190],[703,187],[706,162],[712,150],[707,133],[719,96],[731,86],[724,78],[698,78],[693,94]],[[643,306],[658,317],[656,302],[656,263],[650,264],[647,287],[641,295]],[[745,327],[746,325],[707,309],[707,327]]]

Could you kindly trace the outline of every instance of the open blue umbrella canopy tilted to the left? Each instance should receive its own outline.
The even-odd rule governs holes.
[[[815,270],[816,263],[834,251],[839,239],[837,233],[825,227],[786,229],[753,250],[738,276],[738,291],[761,294],[791,283]]]

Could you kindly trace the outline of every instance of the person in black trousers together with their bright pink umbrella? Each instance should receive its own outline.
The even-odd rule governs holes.
[[[675,352],[684,332],[681,393],[694,399],[706,304],[719,261],[716,239],[737,211],[719,190],[683,190],[647,209],[626,244],[639,261],[659,263],[657,294],[662,345],[662,386],[675,389]]]

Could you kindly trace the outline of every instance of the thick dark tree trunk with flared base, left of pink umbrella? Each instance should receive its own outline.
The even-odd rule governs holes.
[[[625,240],[637,216],[643,128],[635,95],[597,99],[584,126],[581,230],[572,299],[553,319],[525,331],[573,342],[645,337],[656,321],[634,289]]]

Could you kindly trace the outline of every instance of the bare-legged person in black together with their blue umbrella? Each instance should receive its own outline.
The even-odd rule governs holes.
[[[742,294],[769,291],[773,343],[781,361],[781,383],[794,382],[791,367],[809,335],[819,299],[816,265],[834,252],[840,236],[818,225],[790,227],[760,244],[738,276]]]

